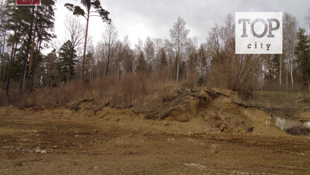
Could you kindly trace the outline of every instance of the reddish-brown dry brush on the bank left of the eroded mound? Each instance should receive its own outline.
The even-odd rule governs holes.
[[[135,106],[143,111],[161,108],[165,101],[174,97],[179,85],[169,74],[127,74],[122,78],[104,77],[94,79],[87,85],[73,80],[61,87],[35,89],[33,92],[17,95],[17,86],[11,87],[10,96],[1,95],[1,106],[41,106],[74,104],[84,99],[94,99],[116,108]]]

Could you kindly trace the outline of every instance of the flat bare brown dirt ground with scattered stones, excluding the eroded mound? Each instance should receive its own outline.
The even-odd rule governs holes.
[[[310,174],[310,136],[104,114],[0,108],[0,174]]]

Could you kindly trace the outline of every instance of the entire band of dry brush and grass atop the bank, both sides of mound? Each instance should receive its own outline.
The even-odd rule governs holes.
[[[183,95],[175,96],[179,87],[182,91],[186,88],[197,86],[197,75],[191,75],[175,83],[175,79],[167,72],[160,74],[127,74],[119,79],[104,77],[93,79],[85,85],[81,80],[73,80],[61,87],[35,89],[31,93],[17,95],[17,83],[11,84],[10,96],[0,95],[0,106],[42,106],[42,105],[74,105],[85,99],[93,99],[98,106],[106,104],[115,108],[134,107],[135,112],[149,113],[154,115],[168,114],[174,106],[184,105]],[[196,88],[197,89],[197,88]],[[239,104],[263,107],[264,109],[310,109],[310,94],[298,92],[234,92],[225,89],[209,90],[211,93],[220,93],[230,97]],[[192,96],[203,97],[197,91]],[[210,99],[209,99],[210,100]],[[204,103],[202,101],[201,103]],[[235,124],[235,123],[232,123]]]

